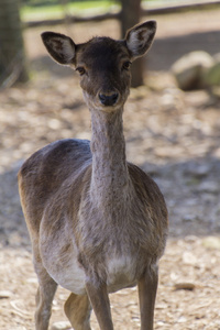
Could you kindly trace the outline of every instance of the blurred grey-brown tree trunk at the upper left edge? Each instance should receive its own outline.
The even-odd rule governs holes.
[[[18,0],[0,1],[0,85],[26,81],[28,72]]]

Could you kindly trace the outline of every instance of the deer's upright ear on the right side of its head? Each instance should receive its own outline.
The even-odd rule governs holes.
[[[145,23],[138,24],[127,32],[127,47],[131,52],[133,59],[143,56],[148,51],[155,33],[155,21],[147,21]]]

